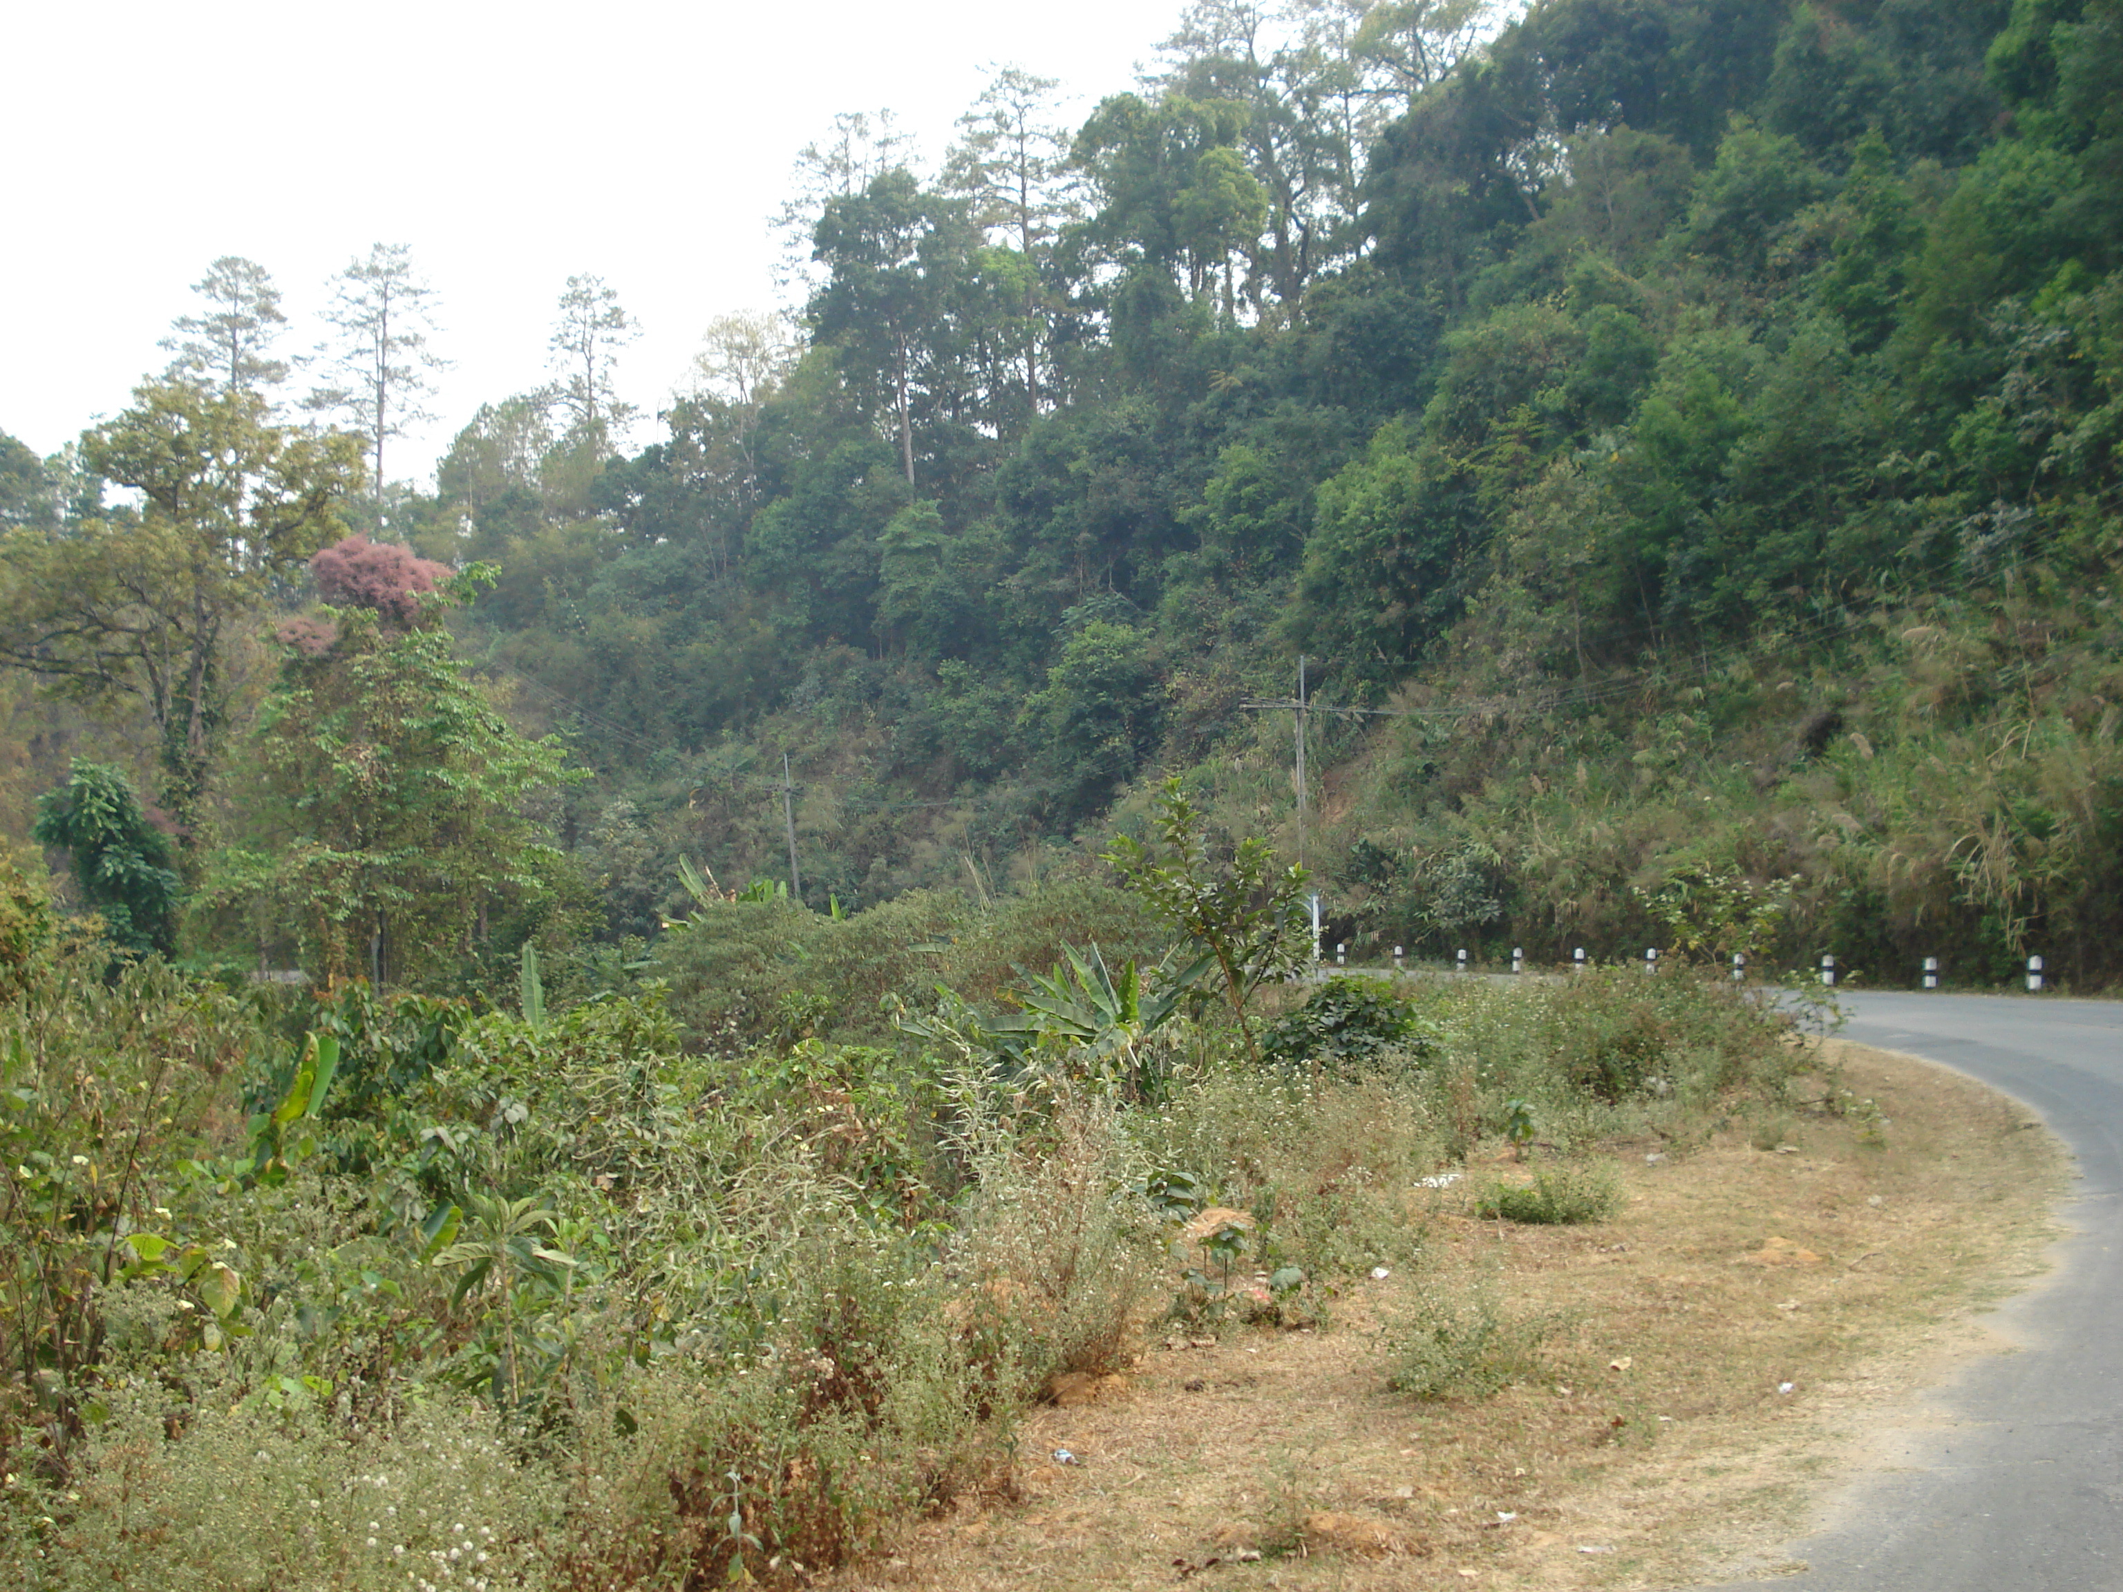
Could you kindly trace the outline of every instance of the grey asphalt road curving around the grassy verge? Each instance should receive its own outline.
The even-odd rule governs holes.
[[[2074,1233],[2057,1274],[1993,1316],[2023,1352],[1981,1361],[1879,1433],[1894,1469],[1790,1543],[1811,1569],[1775,1586],[2123,1592],[2123,1004],[1864,993],[1845,1006],[1845,1038],[2032,1106],[2078,1157]]]

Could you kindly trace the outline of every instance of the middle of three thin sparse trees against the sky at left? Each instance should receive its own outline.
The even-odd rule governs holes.
[[[420,399],[435,391],[444,361],[427,346],[435,329],[435,289],[412,267],[408,244],[372,244],[331,278],[325,321],[338,338],[318,348],[327,382],[310,408],[346,416],[369,439],[369,488],[382,501],[384,444],[435,416]]]

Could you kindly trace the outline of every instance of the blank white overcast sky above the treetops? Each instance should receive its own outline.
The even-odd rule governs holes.
[[[282,352],[306,350],[325,280],[374,242],[412,246],[439,293],[433,346],[454,361],[437,425],[399,444],[408,467],[427,469],[482,401],[546,378],[571,274],[603,276],[641,321],[620,384],[652,416],[709,318],[773,301],[766,217],[836,110],[890,106],[934,161],[985,66],[1062,79],[1081,119],[1134,85],[1178,13],[1180,0],[23,6],[0,96],[0,431],[49,454],[125,408],[221,255],[272,272]]]

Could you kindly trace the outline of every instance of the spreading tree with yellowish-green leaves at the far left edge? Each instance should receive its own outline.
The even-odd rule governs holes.
[[[161,802],[189,826],[227,726],[236,647],[272,586],[344,535],[361,439],[272,425],[255,393],[153,382],[81,450],[140,507],[0,539],[0,664],[81,700],[138,703],[159,739]]]

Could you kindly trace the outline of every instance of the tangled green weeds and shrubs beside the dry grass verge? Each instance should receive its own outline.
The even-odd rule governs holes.
[[[1216,1000],[1068,966],[873,1044],[730,1044],[654,981],[548,1008],[527,964],[473,1013],[40,949],[0,1032],[0,1579],[794,1584],[1002,1486],[1053,1380],[1161,1316],[1316,1325],[1422,1267],[1420,1180],[1514,1119],[1592,1189],[1601,1140],[1798,1063],[1681,976],[1270,989],[1255,1061]],[[1531,1352],[1439,1288],[1401,1386]]]

